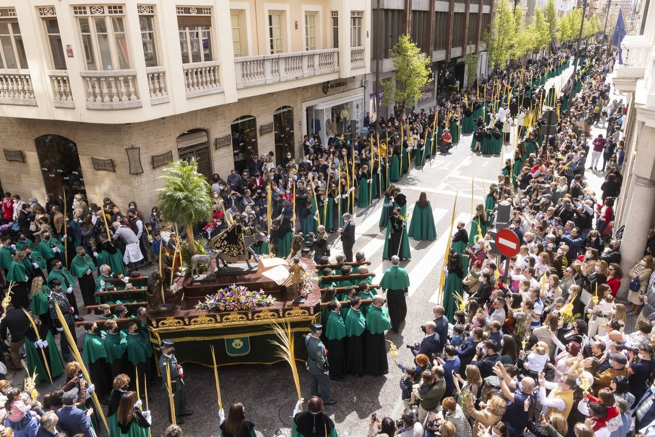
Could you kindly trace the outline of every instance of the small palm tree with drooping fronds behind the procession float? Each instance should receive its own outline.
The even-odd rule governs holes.
[[[198,173],[198,162],[182,159],[171,162],[164,170],[164,186],[158,189],[159,211],[171,223],[181,223],[187,229],[189,250],[196,253],[193,227],[212,216],[211,187]]]

